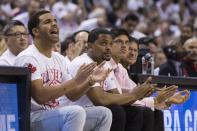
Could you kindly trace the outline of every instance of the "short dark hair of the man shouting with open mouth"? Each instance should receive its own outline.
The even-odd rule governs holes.
[[[28,21],[28,30],[29,30],[29,33],[32,35],[33,38],[34,38],[34,34],[32,32],[32,29],[38,27],[38,25],[40,24],[39,17],[41,15],[47,14],[47,13],[51,13],[51,12],[48,11],[48,10],[39,10],[38,12],[34,13],[30,17],[30,19]]]

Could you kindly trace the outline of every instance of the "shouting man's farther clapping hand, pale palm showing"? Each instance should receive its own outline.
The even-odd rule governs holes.
[[[106,61],[103,61],[101,64],[99,64],[90,75],[90,83],[94,84],[96,82],[102,82],[106,79],[108,74],[112,71],[111,69],[104,69],[103,65]]]

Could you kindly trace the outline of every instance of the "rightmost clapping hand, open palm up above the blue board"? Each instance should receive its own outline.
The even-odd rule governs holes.
[[[186,102],[190,97],[190,91],[184,90],[184,91],[179,91],[172,97],[170,97],[166,103],[167,104],[183,104]]]

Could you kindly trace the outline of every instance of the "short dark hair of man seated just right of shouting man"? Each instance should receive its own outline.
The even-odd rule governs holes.
[[[89,33],[88,42],[89,42],[89,43],[94,43],[94,42],[97,40],[97,38],[98,38],[98,36],[99,36],[100,34],[109,34],[109,35],[111,35],[111,32],[108,31],[108,30],[105,29],[105,28],[96,28],[96,29],[93,29],[93,30],[90,31],[90,33]]]

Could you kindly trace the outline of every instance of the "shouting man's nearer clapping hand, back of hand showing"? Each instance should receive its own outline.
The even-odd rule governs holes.
[[[77,84],[81,84],[89,80],[89,77],[92,74],[95,67],[96,67],[96,62],[87,64],[87,65],[83,64],[79,68],[79,70],[77,71],[77,74],[74,77],[74,80],[77,82]]]

